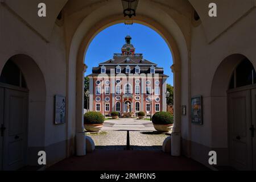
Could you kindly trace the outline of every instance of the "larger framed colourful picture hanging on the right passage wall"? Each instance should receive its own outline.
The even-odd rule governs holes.
[[[203,125],[202,96],[191,97],[191,122]]]

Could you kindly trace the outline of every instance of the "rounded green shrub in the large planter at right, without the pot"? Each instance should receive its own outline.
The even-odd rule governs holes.
[[[174,123],[174,116],[168,112],[158,112],[153,115],[152,123],[155,125],[171,125]]]

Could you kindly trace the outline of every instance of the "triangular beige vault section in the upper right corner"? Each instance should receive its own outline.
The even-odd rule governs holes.
[[[188,0],[194,9],[197,11],[201,18],[201,22],[204,27],[205,35],[207,36],[207,41],[212,42],[214,39],[218,38],[223,32],[228,30],[229,27],[243,15],[247,14],[249,11],[256,7],[255,0]],[[209,17],[208,6],[209,3],[216,3],[217,5],[217,17]]]

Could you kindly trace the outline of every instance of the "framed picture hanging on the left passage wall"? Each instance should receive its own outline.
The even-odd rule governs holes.
[[[55,97],[55,125],[65,123],[65,106],[66,106],[66,98],[64,96]]]

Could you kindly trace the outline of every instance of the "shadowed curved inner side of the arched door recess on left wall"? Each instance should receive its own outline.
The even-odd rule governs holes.
[[[38,151],[45,150],[46,84],[44,76],[30,56],[18,54],[11,56],[9,60],[20,69],[26,81],[28,92],[26,164],[37,165]]]

